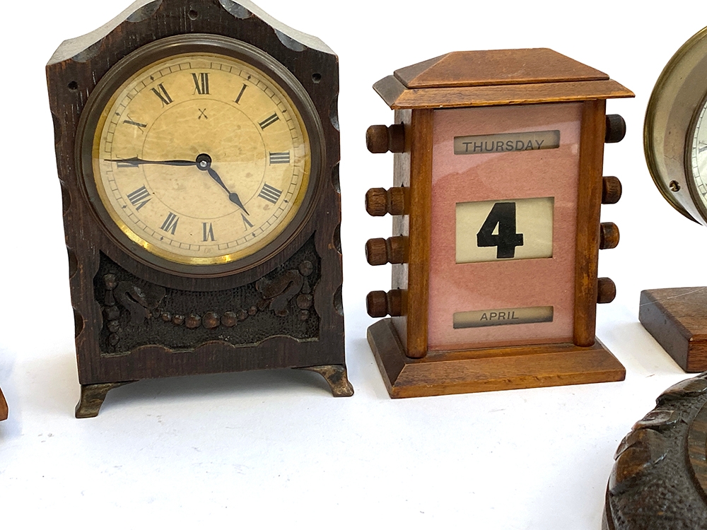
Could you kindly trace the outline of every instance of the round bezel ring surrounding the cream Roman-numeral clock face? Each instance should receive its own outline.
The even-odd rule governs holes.
[[[182,54],[217,54],[232,57],[261,71],[290,99],[292,107],[300,114],[303,134],[305,137],[309,137],[309,183],[306,188],[303,186],[300,189],[298,198],[302,194],[303,197],[298,210],[274,240],[243,257],[233,259],[233,261],[224,259],[222,263],[218,264],[203,264],[199,263],[199,259],[185,259],[180,262],[165,258],[164,254],[166,253],[151,252],[149,247],[141,246],[135,242],[115,223],[115,219],[103,204],[103,199],[95,184],[93,174],[94,139],[96,134],[100,134],[98,124],[101,122],[107,105],[111,104],[117,91],[136,73],[157,61]],[[154,269],[194,278],[240,273],[262,264],[281,252],[298,235],[312,215],[315,199],[319,195],[323,181],[320,173],[324,167],[325,156],[324,133],[317,116],[317,110],[305,88],[295,76],[275,59],[252,45],[221,35],[207,34],[177,35],[151,42],[115,64],[91,93],[86,108],[81,114],[76,141],[77,167],[80,174],[78,181],[86,194],[86,199],[92,206],[91,211],[105,228],[104,231],[110,239],[134,258]],[[307,179],[307,175],[305,174],[303,178]]]

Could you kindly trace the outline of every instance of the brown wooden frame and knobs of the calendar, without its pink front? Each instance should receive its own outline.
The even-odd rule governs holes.
[[[621,117],[607,117],[606,100],[633,93],[606,73],[551,49],[452,52],[399,69],[373,86],[395,110],[395,125],[372,126],[369,151],[392,151],[393,187],[371,189],[370,215],[393,216],[393,237],[372,265],[392,264],[393,289],[373,291],[368,344],[392,398],[459,394],[563,384],[621,381],[626,370],[595,337],[597,303],[614,300],[610,278],[598,278],[599,250],[619,239],[600,223],[602,204],[621,196],[616,177],[602,177],[604,143],[624,138]],[[573,341],[495,348],[428,349],[433,167],[433,113],[439,109],[581,102],[583,105],[575,249]],[[377,247],[377,246],[376,246]],[[396,247],[400,247],[396,251]],[[433,353],[433,355],[429,355]]]

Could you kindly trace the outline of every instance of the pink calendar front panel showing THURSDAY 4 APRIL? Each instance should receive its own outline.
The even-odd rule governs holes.
[[[430,351],[572,341],[581,115],[435,112]]]

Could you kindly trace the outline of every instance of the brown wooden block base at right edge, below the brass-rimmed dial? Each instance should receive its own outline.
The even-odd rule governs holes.
[[[638,320],[685,372],[707,370],[707,287],[641,291]]]

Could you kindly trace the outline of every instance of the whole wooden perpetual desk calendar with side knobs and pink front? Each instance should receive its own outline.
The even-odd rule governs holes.
[[[619,230],[601,204],[604,141],[623,139],[607,98],[633,96],[550,49],[454,52],[373,87],[395,124],[372,126],[373,153],[395,153],[392,189],[370,189],[370,215],[393,235],[368,263],[392,263],[392,290],[367,298],[368,329],[392,397],[619,381],[595,339],[599,249]]]

